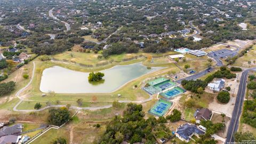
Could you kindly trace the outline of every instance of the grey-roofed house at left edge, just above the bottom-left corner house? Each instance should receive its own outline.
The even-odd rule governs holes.
[[[0,130],[0,137],[3,137],[5,135],[20,134],[21,132],[22,132],[21,124],[15,124],[13,126],[4,126]]]

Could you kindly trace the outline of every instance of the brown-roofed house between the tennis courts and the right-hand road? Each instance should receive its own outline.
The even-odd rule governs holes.
[[[197,109],[194,113],[194,117],[196,118],[196,123],[201,123],[202,120],[209,120],[212,116],[212,111],[207,108]]]

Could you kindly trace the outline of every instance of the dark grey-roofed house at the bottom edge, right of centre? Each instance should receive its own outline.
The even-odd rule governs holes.
[[[189,123],[179,126],[175,131],[176,137],[185,142],[189,142],[193,135],[199,137],[199,135],[202,134],[205,134],[205,131],[199,129],[196,125]]]

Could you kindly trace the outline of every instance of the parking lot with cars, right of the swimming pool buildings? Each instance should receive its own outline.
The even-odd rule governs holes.
[[[236,54],[237,54],[237,51],[222,49],[222,50],[218,50],[218,51],[211,51],[207,55],[217,61],[217,66],[222,66],[223,63],[220,59],[226,59],[228,57],[232,58],[232,57],[235,57]]]

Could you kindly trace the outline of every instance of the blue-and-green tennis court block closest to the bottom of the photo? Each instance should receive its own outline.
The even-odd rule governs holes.
[[[148,113],[154,116],[163,116],[171,108],[172,102],[159,99],[155,105],[149,109]]]

